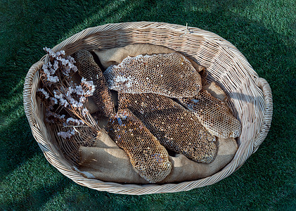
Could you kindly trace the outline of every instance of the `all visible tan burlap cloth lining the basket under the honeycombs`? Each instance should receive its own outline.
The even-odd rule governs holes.
[[[136,44],[105,51],[95,51],[104,68],[120,63],[127,56],[171,52],[174,51],[162,46],[148,44]],[[194,66],[199,72],[204,69],[197,63],[193,62],[193,64],[195,64]],[[215,84],[209,84],[205,86],[205,89],[210,91],[214,97],[226,101],[226,95]],[[232,138],[217,138],[216,144],[218,152],[216,158],[210,164],[194,162],[184,155],[179,154],[169,156],[169,161],[172,162],[172,171],[160,184],[201,179],[209,177],[221,170],[221,168],[233,159],[238,145],[236,140]],[[127,153],[110,139],[105,129],[101,129],[98,133],[93,147],[80,146],[79,155],[79,167],[75,169],[77,172],[84,175],[84,177],[118,183],[148,183],[148,181],[140,177],[139,174],[134,171]]]

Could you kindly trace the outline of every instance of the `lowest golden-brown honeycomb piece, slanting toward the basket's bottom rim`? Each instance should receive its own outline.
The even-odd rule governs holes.
[[[150,183],[162,181],[172,163],[165,147],[128,109],[119,110],[107,125],[110,138],[129,155],[131,165]]]

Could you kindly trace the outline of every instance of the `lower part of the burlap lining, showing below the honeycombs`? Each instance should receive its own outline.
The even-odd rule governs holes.
[[[102,181],[120,183],[148,184],[148,181],[137,174],[129,161],[127,153],[119,148],[110,137],[102,133],[94,147],[81,146],[79,154],[81,161],[78,170],[84,177],[96,178]],[[221,170],[236,154],[238,145],[235,139],[217,139],[218,152],[210,164],[194,162],[184,155],[169,156],[172,171],[161,182],[173,183],[205,178]]]

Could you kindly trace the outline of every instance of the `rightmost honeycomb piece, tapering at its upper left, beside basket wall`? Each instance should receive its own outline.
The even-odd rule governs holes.
[[[232,115],[226,103],[214,98],[208,91],[202,89],[197,96],[179,101],[195,113],[212,135],[223,139],[240,136],[240,122]]]

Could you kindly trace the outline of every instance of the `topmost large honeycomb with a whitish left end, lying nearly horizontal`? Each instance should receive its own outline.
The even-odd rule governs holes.
[[[184,98],[201,89],[200,75],[180,53],[127,57],[119,65],[111,65],[104,75],[109,89],[129,94]]]

